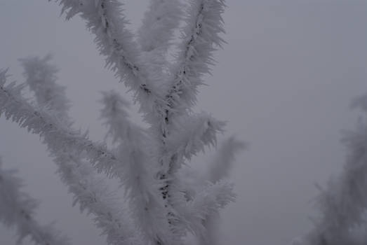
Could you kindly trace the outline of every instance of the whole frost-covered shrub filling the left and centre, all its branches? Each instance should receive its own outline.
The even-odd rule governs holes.
[[[186,11],[178,0],[152,0],[137,38],[126,28],[128,20],[117,0],[57,2],[67,20],[79,15],[86,21],[106,66],[133,92],[149,126],[133,123],[129,103],[109,91],[102,93],[101,117],[112,146],[74,130],[65,88],[55,83],[58,69],[50,56],[21,59],[26,81],[20,85],[8,83],[7,70],[0,72],[0,115],[39,134],[74,204],[93,214],[107,244],[185,244],[190,233],[201,244],[218,243],[213,223],[218,211],[234,200],[225,177],[243,143],[225,141],[207,176],[190,174],[185,166],[197,153],[216,146],[225,125],[192,110],[202,77],[214,62],[213,51],[224,42],[224,0],[190,0]],[[171,61],[168,50],[180,28]],[[25,97],[24,87],[34,100]],[[127,207],[116,201],[106,178],[119,180]],[[34,200],[19,187],[19,179],[0,170],[0,195],[7,197],[0,200],[0,220],[35,244],[68,244],[58,232],[34,221]]]

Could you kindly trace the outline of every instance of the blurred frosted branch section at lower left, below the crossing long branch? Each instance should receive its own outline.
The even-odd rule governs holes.
[[[93,214],[95,225],[107,236],[107,244],[142,244],[139,232],[133,230],[128,212],[116,203],[104,179],[98,178],[86,162],[74,159],[76,153],[59,154],[55,158],[62,181],[74,195],[74,205]]]

